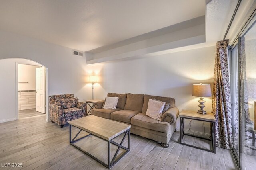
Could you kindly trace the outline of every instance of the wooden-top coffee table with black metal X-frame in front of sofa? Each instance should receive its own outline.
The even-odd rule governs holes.
[[[68,122],[69,125],[69,143],[70,145],[76,147],[77,149],[81,150],[106,168],[110,169],[114,164],[116,164],[122,157],[124,157],[129,151],[130,151],[130,125],[112,121],[110,119],[104,119],[102,117],[90,115],[86,117],[82,117],[80,119],[75,119]],[[73,139],[71,139],[71,127],[77,127],[80,129],[78,133],[74,136]],[[105,164],[98,158],[92,156],[85,150],[81,149],[77,145],[74,144],[74,142],[83,139],[85,137],[88,137],[89,135],[86,135],[84,137],[80,137],[79,139],[76,139],[76,137],[79,135],[81,131],[86,131],[89,133],[89,135],[94,135],[96,137],[99,137],[100,139],[103,139],[104,141],[108,142],[108,164]],[[118,137],[119,135],[124,133],[124,137],[121,141],[121,143],[116,143],[113,141],[114,138]],[[128,148],[124,147],[122,144],[124,142],[124,139],[128,135]],[[114,157],[112,160],[110,160],[110,143],[118,146],[118,149],[116,150],[116,153],[114,154]],[[120,150],[120,148],[125,149],[126,151],[116,159],[116,156]]]

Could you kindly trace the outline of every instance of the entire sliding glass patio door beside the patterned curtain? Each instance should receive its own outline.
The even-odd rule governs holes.
[[[237,40],[229,60],[232,152],[241,170],[256,170],[256,10]]]

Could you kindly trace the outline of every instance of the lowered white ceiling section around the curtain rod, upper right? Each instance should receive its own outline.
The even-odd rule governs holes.
[[[212,0],[206,6],[206,43],[215,45],[223,39],[226,29],[230,23],[238,0]],[[255,8],[256,0],[242,0],[236,16],[232,22],[226,39],[230,43],[236,37],[242,26],[247,21],[248,15]]]

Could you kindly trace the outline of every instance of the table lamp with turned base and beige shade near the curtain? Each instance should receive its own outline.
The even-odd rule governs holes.
[[[197,113],[200,114],[206,114],[206,111],[204,110],[204,98],[203,97],[210,97],[212,96],[211,92],[211,85],[210,84],[193,84],[193,93],[192,96],[200,97],[200,100],[198,102],[200,103],[198,106],[200,107],[200,110],[198,110]]]

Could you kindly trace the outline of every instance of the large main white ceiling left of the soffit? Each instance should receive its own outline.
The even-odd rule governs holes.
[[[89,51],[204,14],[205,0],[1,0],[0,29]]]

